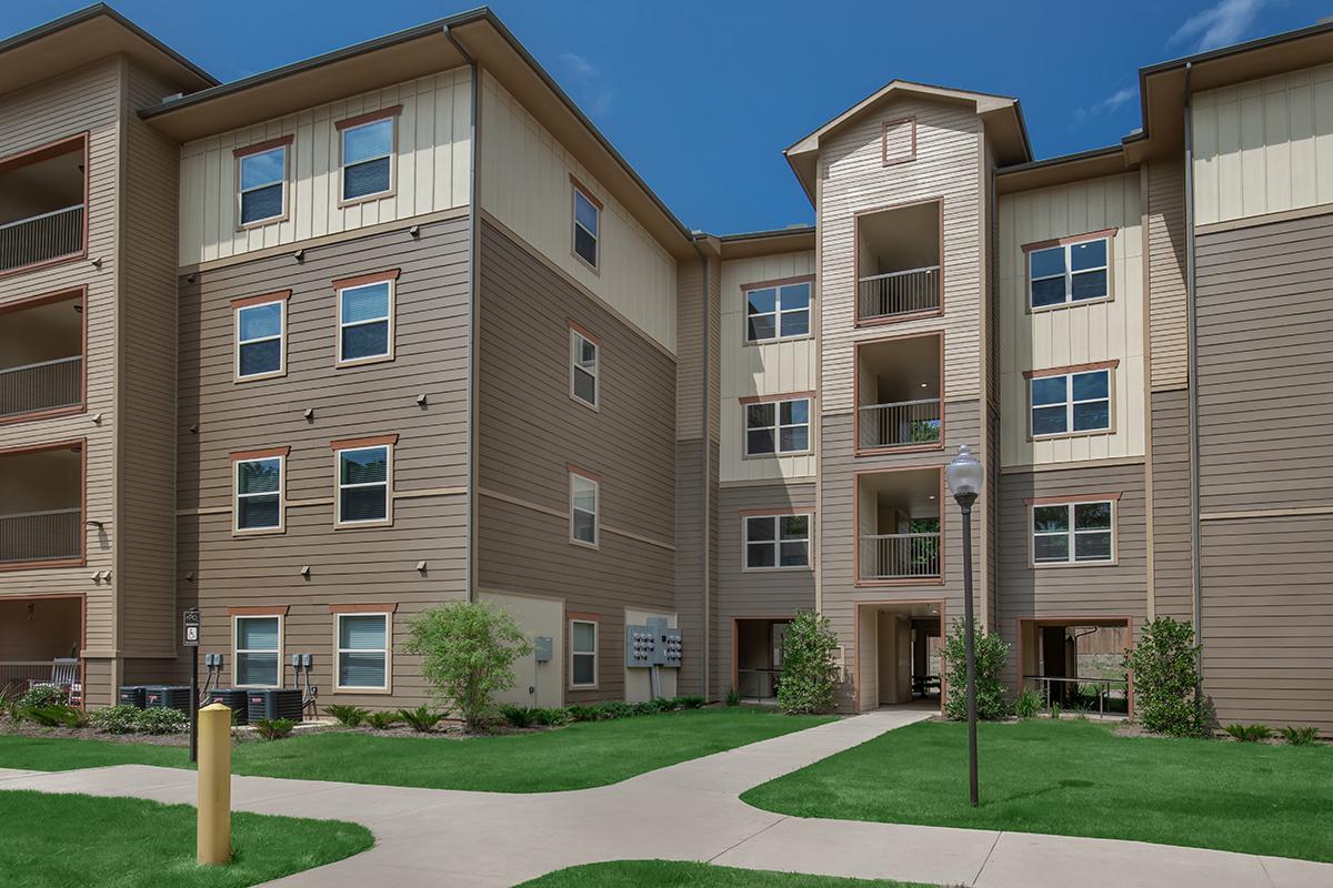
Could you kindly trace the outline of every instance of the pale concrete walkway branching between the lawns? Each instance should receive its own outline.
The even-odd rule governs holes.
[[[271,883],[284,888],[513,885],[599,860],[708,860],[861,879],[986,888],[1329,888],[1333,865],[1136,841],[812,820],[737,795],[926,718],[884,710],[576,792],[505,795],[237,776],[236,809],[365,824],[356,857]],[[195,801],[195,774],[116,766],[0,770],[0,789]]]

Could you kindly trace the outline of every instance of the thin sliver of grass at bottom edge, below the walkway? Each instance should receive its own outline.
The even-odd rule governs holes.
[[[571,867],[519,888],[925,888],[902,881],[802,876],[766,869],[733,869],[673,860],[617,860]]]

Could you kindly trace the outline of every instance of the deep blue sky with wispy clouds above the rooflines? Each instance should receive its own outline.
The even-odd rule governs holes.
[[[5,3],[0,36],[81,5]],[[225,81],[477,3],[112,5]],[[1333,15],[1333,0],[489,5],[681,221],[716,233],[813,221],[782,149],[894,77],[1017,96],[1037,156],[1050,157],[1138,125],[1140,67]]]

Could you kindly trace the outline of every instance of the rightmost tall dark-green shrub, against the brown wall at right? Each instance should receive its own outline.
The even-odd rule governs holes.
[[[1149,731],[1182,738],[1208,732],[1198,698],[1198,651],[1193,626],[1161,616],[1144,626],[1138,644],[1125,654],[1138,718]]]

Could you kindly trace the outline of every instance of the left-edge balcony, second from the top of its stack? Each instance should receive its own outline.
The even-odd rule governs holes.
[[[0,422],[81,406],[83,350],[81,292],[0,313]]]

